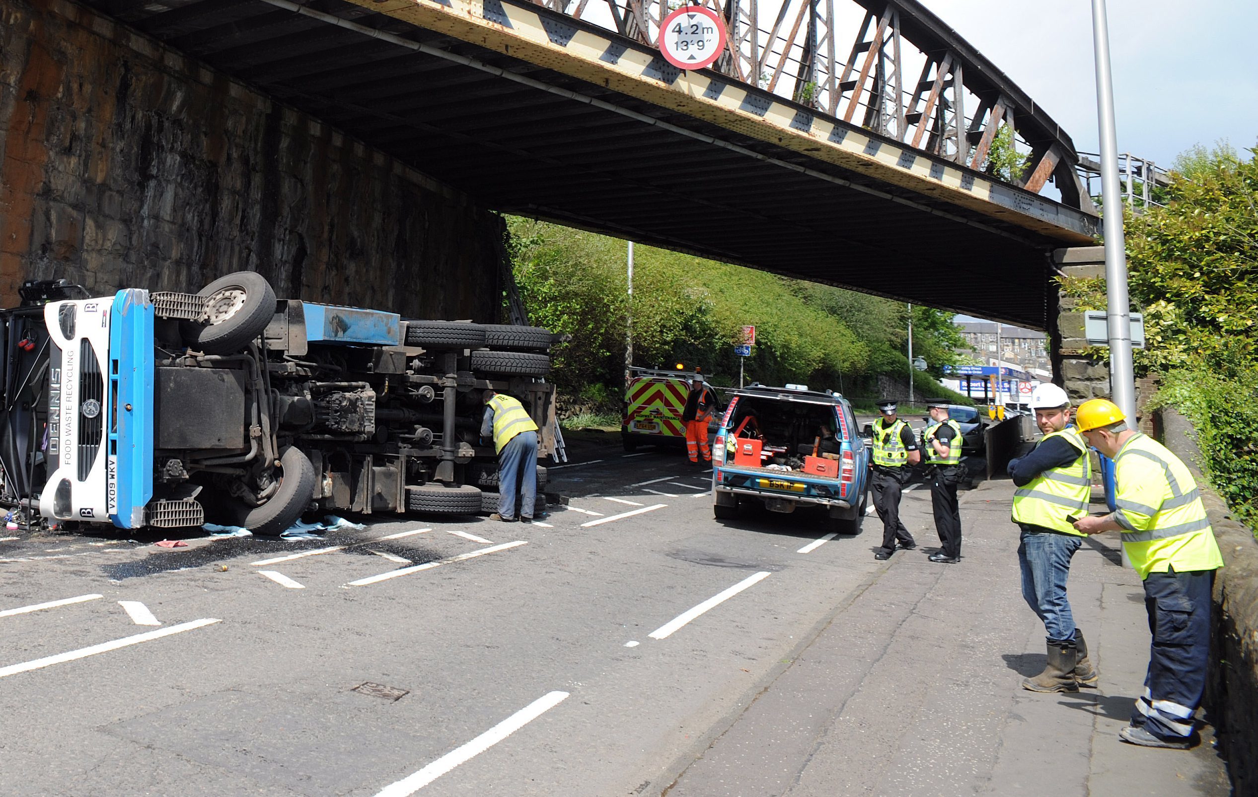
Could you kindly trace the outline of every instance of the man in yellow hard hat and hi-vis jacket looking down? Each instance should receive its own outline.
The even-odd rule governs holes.
[[[1145,747],[1188,748],[1210,654],[1210,592],[1223,567],[1196,480],[1165,446],[1127,426],[1105,398],[1084,401],[1076,424],[1088,444],[1113,459],[1115,505],[1084,517],[1084,534],[1122,532],[1122,548],[1145,581],[1154,635],[1145,694],[1118,737]]]

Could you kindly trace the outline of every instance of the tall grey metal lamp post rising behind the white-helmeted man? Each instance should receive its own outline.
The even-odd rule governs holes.
[[[1092,43],[1097,62],[1097,117],[1101,128],[1101,196],[1105,205],[1105,280],[1110,324],[1110,392],[1127,421],[1136,421],[1136,380],[1131,365],[1131,303],[1127,298],[1127,249],[1122,234],[1122,185],[1113,119],[1110,28],[1105,0],[1092,0]],[[1130,180],[1128,175],[1128,180]]]

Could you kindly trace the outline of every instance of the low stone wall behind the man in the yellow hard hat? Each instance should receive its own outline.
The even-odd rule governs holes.
[[[1157,411],[1166,448],[1193,470],[1225,566],[1214,581],[1214,636],[1205,705],[1228,761],[1233,793],[1258,793],[1258,542],[1201,475],[1191,424],[1170,407]]]

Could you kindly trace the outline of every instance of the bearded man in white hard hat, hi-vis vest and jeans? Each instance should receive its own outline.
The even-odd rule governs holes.
[[[1057,385],[1040,385],[1030,395],[1035,425],[1044,434],[1023,458],[1009,460],[1014,493],[1013,520],[1021,528],[1018,563],[1023,597],[1044,622],[1048,666],[1023,679],[1032,691],[1078,691],[1096,686],[1083,634],[1074,626],[1066,580],[1071,557],[1083,544],[1073,520],[1088,513],[1092,464],[1088,444],[1071,425],[1071,400]]]

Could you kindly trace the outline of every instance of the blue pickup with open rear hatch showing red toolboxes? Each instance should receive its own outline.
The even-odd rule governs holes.
[[[829,530],[859,533],[869,456],[839,393],[801,385],[732,391],[712,451],[713,514],[733,519],[747,502],[777,513],[816,507]]]

